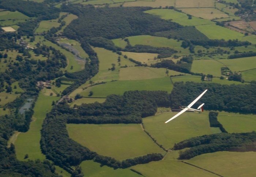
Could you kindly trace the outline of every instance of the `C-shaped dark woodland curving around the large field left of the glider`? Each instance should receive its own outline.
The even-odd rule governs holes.
[[[154,115],[157,106],[169,105],[165,91],[128,91],[123,96],[109,95],[104,103],[91,103],[70,108],[67,104],[56,105],[47,115],[41,131],[41,148],[47,158],[56,165],[72,172],[72,165],[93,159],[113,168],[126,168],[140,163],[158,161],[161,154],[126,159],[122,162],[98,155],[68,137],[67,123],[141,123],[142,117]]]

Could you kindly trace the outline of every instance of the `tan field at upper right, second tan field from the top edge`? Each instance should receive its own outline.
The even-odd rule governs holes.
[[[207,20],[229,17],[224,12],[215,8],[182,8],[179,10],[181,10],[182,12],[185,12],[186,14],[190,14],[192,16],[196,16],[199,18],[207,19]]]

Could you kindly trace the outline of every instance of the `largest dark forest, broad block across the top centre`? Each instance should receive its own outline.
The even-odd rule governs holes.
[[[150,8],[93,8],[75,5],[63,6],[64,11],[74,13],[78,19],[64,30],[69,38],[104,37],[108,39],[132,35],[150,34],[181,27],[177,23],[143,13]]]

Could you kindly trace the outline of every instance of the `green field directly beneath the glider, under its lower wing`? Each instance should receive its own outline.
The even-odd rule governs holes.
[[[157,114],[143,118],[143,124],[159,144],[162,144],[165,148],[172,148],[174,143],[185,139],[220,133],[219,128],[210,127],[208,113],[208,111],[200,114],[185,112],[168,124],[165,124],[165,121],[177,114],[177,112]]]

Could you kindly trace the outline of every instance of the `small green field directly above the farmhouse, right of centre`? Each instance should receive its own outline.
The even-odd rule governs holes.
[[[217,60],[194,60],[191,72],[221,76],[221,67],[225,67]]]

